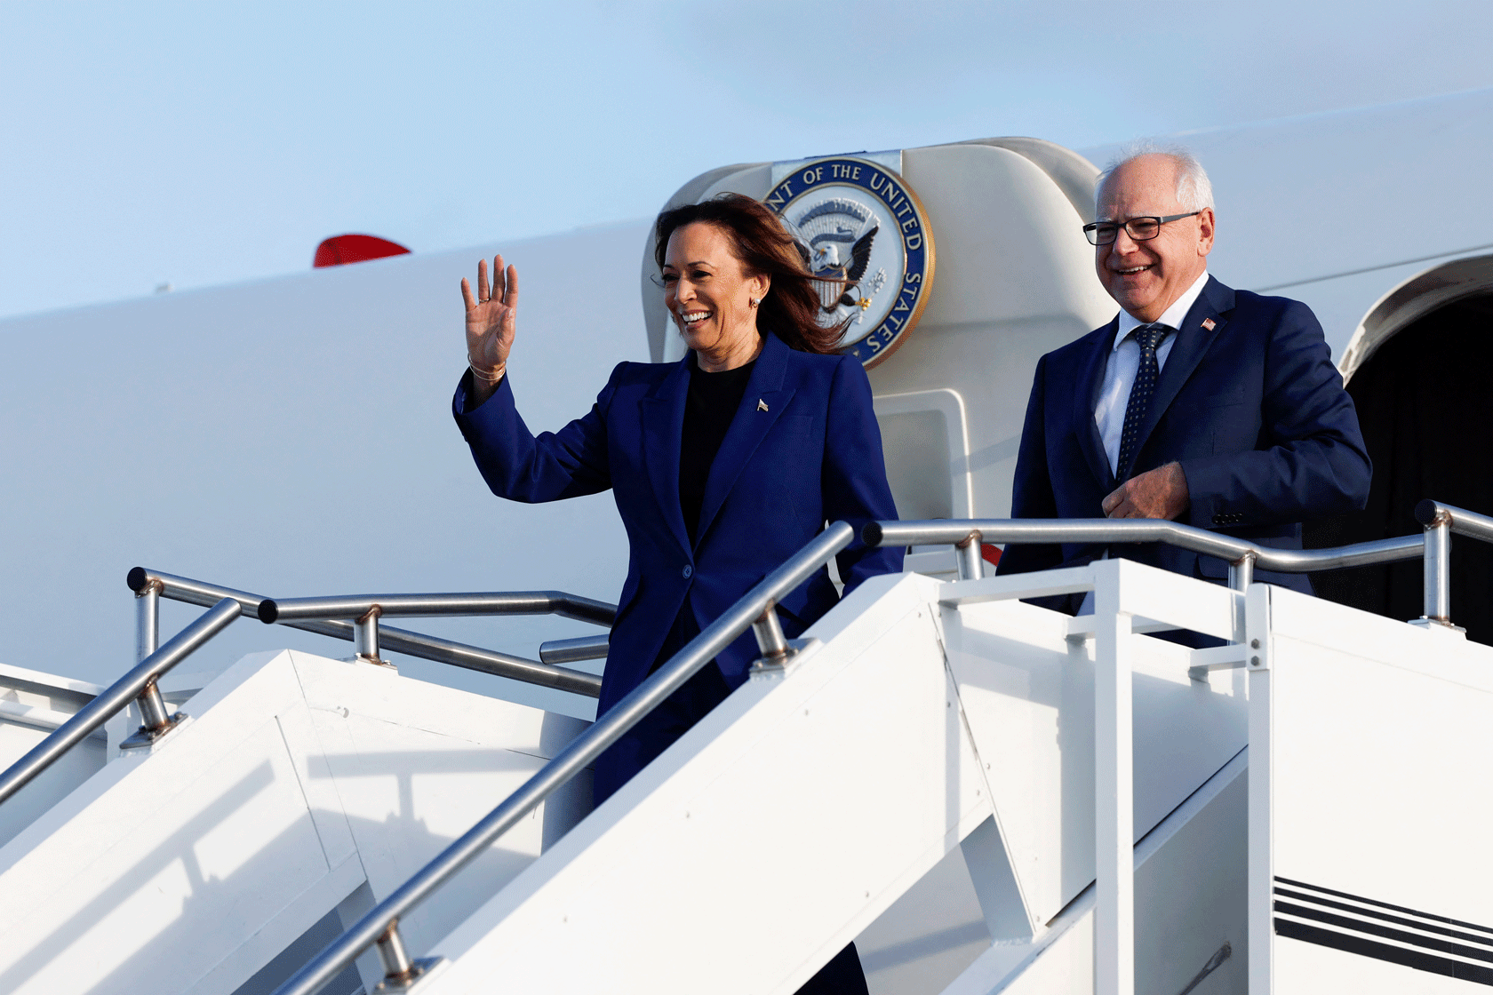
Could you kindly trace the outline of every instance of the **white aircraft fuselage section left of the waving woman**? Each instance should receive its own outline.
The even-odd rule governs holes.
[[[615,601],[627,542],[611,495],[514,504],[472,465],[451,421],[466,364],[457,283],[484,254],[518,264],[514,389],[534,431],[557,430],[590,410],[618,361],[646,358],[633,283],[642,233],[596,228],[0,321],[0,659],[115,680],[134,662],[133,565],[266,597],[555,588]],[[58,371],[81,351],[109,376],[58,403]],[[163,638],[197,613],[163,604]],[[543,638],[597,631],[554,618],[408,628],[530,658]],[[270,637],[252,619],[213,646],[218,670],[266,646],[351,655],[294,630]],[[582,718],[596,707],[399,662]]]

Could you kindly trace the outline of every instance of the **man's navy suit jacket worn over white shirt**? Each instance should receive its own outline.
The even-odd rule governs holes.
[[[1012,518],[1103,518],[1100,501],[1120,482],[1094,407],[1117,328],[1118,316],[1038,362]],[[1303,519],[1365,506],[1371,467],[1359,416],[1306,304],[1209,277],[1176,334],[1141,427],[1135,473],[1181,464],[1191,504],[1178,521],[1300,549]],[[997,570],[1078,565],[1103,549],[1011,546]],[[1111,555],[1193,577],[1227,574],[1223,559],[1173,546],[1120,544]],[[1303,574],[1262,570],[1256,579],[1311,591]]]

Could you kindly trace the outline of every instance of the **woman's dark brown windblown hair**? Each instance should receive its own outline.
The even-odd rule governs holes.
[[[778,215],[742,194],[720,194],[699,204],[670,207],[654,227],[654,261],[663,270],[669,236],[685,225],[708,224],[732,240],[732,254],[748,273],[772,277],[758,304],[757,327],[770,330],[799,352],[838,352],[845,324],[820,324],[820,292],[793,236]],[[848,319],[847,319],[848,321]]]

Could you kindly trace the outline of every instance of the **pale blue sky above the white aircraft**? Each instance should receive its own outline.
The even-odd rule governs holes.
[[[0,0],[0,318],[643,218],[729,163],[1489,87],[1489,51],[1483,1]]]

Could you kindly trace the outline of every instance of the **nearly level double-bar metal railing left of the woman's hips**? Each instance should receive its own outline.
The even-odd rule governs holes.
[[[312,621],[288,621],[281,613],[281,606],[297,604],[300,601],[309,601],[311,598],[297,598],[296,601],[275,601],[270,598],[261,598],[257,594],[249,594],[248,591],[236,591],[233,588],[224,588],[213,583],[205,583],[202,580],[193,580],[191,577],[178,577],[175,574],[161,573],[157,570],[145,570],[143,567],[136,567],[130,571],[127,577],[130,589],[137,595],[142,595],[142,613],[140,627],[142,630],[154,630],[154,612],[148,610],[143,598],[148,597],[163,597],[172,601],[182,601],[187,604],[212,604],[218,598],[234,598],[243,606],[245,615],[266,621],[267,613],[273,613],[273,621],[278,625],[285,625],[287,628],[300,630],[303,633],[315,633],[317,635],[328,635],[331,638],[340,638],[349,643],[358,643],[358,633],[355,622],[346,622],[340,619],[312,619]],[[152,594],[148,594],[152,592]],[[367,595],[364,595],[366,598]],[[384,597],[384,595],[373,595]],[[582,598],[579,595],[566,594],[563,591],[534,591],[534,592],[517,592],[517,594],[488,594],[488,595],[388,595],[390,598],[490,598],[494,604],[502,604],[500,612],[481,612],[481,615],[543,615],[551,606],[557,606],[557,615],[564,615],[566,618],[579,618],[587,622],[597,621],[597,624],[609,624],[611,618],[615,618],[615,606],[606,604],[605,601],[593,601],[591,598]],[[318,598],[317,601],[322,601]],[[360,615],[367,613],[369,603],[366,600],[354,598],[354,607],[363,606]],[[431,612],[431,615],[440,615],[442,612]],[[451,612],[445,612],[449,615]],[[599,622],[599,619],[606,618],[608,622]],[[142,641],[148,641],[142,635]],[[512,653],[503,653],[493,649],[482,649],[479,646],[467,646],[466,643],[457,643],[454,640],[440,638],[436,635],[426,635],[423,633],[411,633],[409,630],[381,627],[378,630],[378,641],[384,649],[393,650],[396,653],[405,653],[408,656],[417,656],[420,659],[434,661],[437,664],[451,664],[454,667],[464,667],[466,670],[475,670],[484,674],[493,674],[494,677],[508,677],[509,680],[521,680],[524,683],[537,685],[540,688],[552,688],[555,691],[567,691],[570,694],[587,695],[590,698],[597,698],[602,694],[602,679],[596,674],[588,674],[581,670],[570,670],[567,667],[555,667],[554,664],[537,659],[529,659],[527,656],[515,656]],[[373,653],[376,656],[376,653]],[[569,662],[569,661],[564,661]]]

